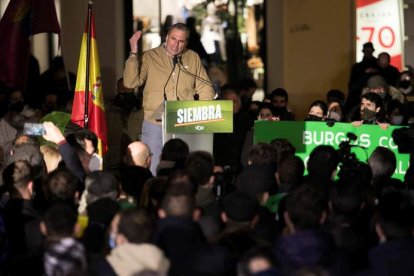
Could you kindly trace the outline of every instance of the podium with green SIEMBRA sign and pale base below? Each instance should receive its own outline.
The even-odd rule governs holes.
[[[162,141],[179,138],[190,151],[213,154],[213,134],[233,132],[232,101],[167,101],[162,119]]]

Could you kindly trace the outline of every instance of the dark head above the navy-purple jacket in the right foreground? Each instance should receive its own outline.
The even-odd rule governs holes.
[[[328,203],[320,189],[300,185],[286,199],[284,218],[290,233],[318,228],[325,222]]]

